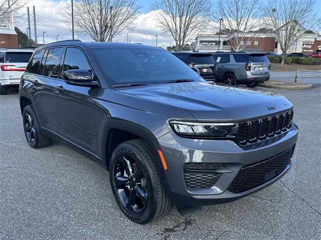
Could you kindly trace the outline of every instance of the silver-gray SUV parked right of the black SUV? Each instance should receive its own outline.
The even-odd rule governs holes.
[[[270,79],[270,61],[265,53],[225,52],[214,53],[217,81],[224,84],[246,84],[254,87]]]

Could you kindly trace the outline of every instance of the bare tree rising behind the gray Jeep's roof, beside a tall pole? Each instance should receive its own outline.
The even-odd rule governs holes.
[[[75,31],[95,41],[112,41],[134,27],[140,6],[136,0],[74,0]],[[66,5],[65,20],[71,22],[71,4]]]

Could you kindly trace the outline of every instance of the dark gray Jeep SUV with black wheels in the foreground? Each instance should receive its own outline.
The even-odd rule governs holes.
[[[123,213],[147,223],[260,190],[291,166],[298,130],[284,96],[205,81],[159,47],[55,42],[21,77],[33,148],[55,138],[109,170]]]

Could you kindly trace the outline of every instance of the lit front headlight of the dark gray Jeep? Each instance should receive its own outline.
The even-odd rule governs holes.
[[[178,135],[197,137],[223,137],[230,133],[233,122],[198,123],[188,121],[170,121],[170,125]]]

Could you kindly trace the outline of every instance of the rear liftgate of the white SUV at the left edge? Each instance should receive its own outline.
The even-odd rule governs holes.
[[[2,63],[3,73],[7,74],[9,80],[19,83],[21,75],[26,70],[32,51],[7,51],[5,61]]]

